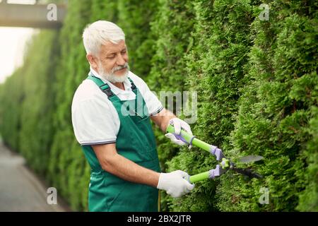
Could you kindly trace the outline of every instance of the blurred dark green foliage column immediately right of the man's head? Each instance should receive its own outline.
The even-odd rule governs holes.
[[[155,39],[150,32],[150,22],[157,9],[157,0],[119,0],[118,21],[126,37],[131,71],[143,79],[151,71],[151,57],[154,54]]]

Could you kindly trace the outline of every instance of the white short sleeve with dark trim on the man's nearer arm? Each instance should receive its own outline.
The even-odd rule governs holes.
[[[116,142],[116,126],[107,102],[93,98],[77,102],[72,107],[72,124],[81,145]]]

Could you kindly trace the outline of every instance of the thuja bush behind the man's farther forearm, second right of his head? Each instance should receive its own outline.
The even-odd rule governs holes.
[[[191,32],[194,23],[194,13],[191,1],[160,0],[158,12],[151,22],[151,35],[155,37],[155,54],[152,57],[151,73],[146,77],[151,90],[158,97],[160,91],[182,92],[186,76],[186,61],[184,59],[191,48]],[[172,97],[172,96],[170,96]],[[173,106],[164,107],[173,109]],[[155,127],[154,127],[155,128]],[[163,132],[155,129],[161,169],[165,172],[167,160],[170,160],[178,148],[171,145]],[[161,193],[161,210],[169,210],[166,205],[165,193]]]

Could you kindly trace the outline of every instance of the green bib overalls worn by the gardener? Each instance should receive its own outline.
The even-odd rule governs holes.
[[[142,167],[160,172],[155,136],[151,128],[147,107],[145,107],[146,103],[131,78],[129,78],[131,90],[136,94],[136,99],[126,101],[122,101],[117,95],[114,95],[110,86],[102,82],[100,78],[89,74],[87,79],[94,81],[100,87],[100,90],[107,95],[105,97],[108,97],[117,110],[120,120],[116,139],[117,153]],[[135,102],[134,112],[143,112],[142,115],[122,114],[122,105],[131,101]],[[88,210],[111,212],[158,211],[158,189],[144,184],[128,182],[106,172],[100,166],[93,148],[90,145],[82,145],[82,148],[91,167]]]

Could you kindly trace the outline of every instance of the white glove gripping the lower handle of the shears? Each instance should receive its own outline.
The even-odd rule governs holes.
[[[167,191],[173,198],[181,197],[194,189],[194,184],[188,182],[189,174],[181,170],[160,173],[157,189]]]

